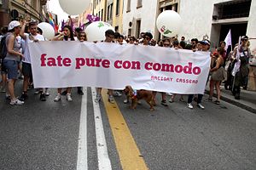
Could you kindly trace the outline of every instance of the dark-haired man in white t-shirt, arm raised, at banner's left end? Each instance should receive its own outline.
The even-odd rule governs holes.
[[[44,37],[41,34],[38,34],[38,24],[36,21],[28,23],[28,31],[30,33],[25,33],[26,21],[21,27],[20,37],[24,40],[24,46],[22,47],[24,58],[22,59],[22,74],[24,76],[23,82],[23,92],[20,96],[20,100],[24,101],[27,98],[27,86],[29,78],[32,77],[32,67],[31,67],[31,56],[28,49],[28,43],[44,41]],[[40,94],[40,100],[45,101],[45,92]]]

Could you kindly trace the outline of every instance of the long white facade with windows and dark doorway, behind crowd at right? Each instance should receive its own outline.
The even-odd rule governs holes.
[[[256,37],[256,0],[124,0],[123,33],[138,37],[150,31],[160,39],[155,21],[164,10],[175,10],[182,18],[179,37],[208,38],[212,47],[231,30],[233,46],[238,37]],[[253,17],[254,16],[254,17]],[[256,47],[252,39],[251,46]]]

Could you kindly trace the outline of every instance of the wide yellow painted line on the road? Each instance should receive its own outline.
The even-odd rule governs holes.
[[[148,169],[143,156],[137,148],[129,127],[119,110],[119,106],[108,102],[107,90],[102,90],[102,99],[108,115],[108,121],[113,133],[113,139],[119,153],[119,159],[124,170]]]

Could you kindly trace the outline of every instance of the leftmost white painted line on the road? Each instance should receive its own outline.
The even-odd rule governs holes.
[[[87,87],[81,102],[77,170],[87,170]]]

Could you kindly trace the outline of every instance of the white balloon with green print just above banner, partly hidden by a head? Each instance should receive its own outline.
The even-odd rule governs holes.
[[[91,23],[89,26],[86,27],[85,33],[87,37],[87,41],[89,42],[100,42],[105,40],[105,31],[113,30],[113,27],[102,21],[96,21]]]

